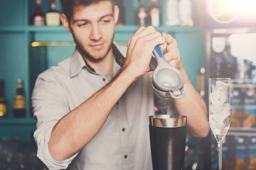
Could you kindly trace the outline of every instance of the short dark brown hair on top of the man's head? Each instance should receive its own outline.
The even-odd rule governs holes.
[[[115,0],[61,0],[61,6],[63,9],[63,13],[67,16],[67,19],[70,21],[73,16],[74,8],[78,6],[90,6],[91,4],[100,3],[102,1],[111,1],[112,8],[114,9]]]

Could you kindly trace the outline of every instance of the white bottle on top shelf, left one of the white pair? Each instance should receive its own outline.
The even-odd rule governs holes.
[[[167,26],[178,26],[180,25],[179,19],[179,9],[178,9],[178,0],[168,0],[167,1]]]

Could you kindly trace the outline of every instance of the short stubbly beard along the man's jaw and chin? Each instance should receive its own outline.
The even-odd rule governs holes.
[[[115,34],[113,34],[113,37],[111,39],[111,44],[108,46],[108,50],[102,56],[95,57],[95,56],[92,56],[89,53],[89,51],[87,51],[83,47],[83,45],[79,42],[79,40],[77,40],[77,38],[76,38],[75,34],[73,33],[72,29],[71,29],[71,33],[72,33],[73,39],[74,39],[74,41],[76,43],[76,48],[79,51],[79,53],[81,54],[81,56],[89,59],[92,62],[100,62],[100,61],[102,61],[102,59],[104,59],[108,55],[109,51],[111,50],[111,45],[112,45],[112,42],[114,40],[114,35],[115,35]]]

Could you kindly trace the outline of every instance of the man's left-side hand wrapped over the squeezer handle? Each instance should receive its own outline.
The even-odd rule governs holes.
[[[127,71],[134,80],[143,76],[150,70],[149,63],[155,46],[163,44],[160,32],[154,27],[140,27],[137,32],[128,40],[128,49],[123,70]],[[162,47],[162,50],[164,50]]]

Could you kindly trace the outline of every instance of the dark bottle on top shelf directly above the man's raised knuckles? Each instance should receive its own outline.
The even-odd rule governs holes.
[[[148,9],[144,5],[144,0],[140,0],[140,7],[137,11],[137,24],[145,26],[148,24]]]

